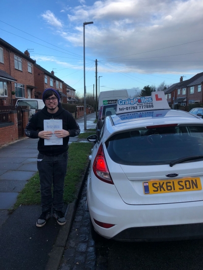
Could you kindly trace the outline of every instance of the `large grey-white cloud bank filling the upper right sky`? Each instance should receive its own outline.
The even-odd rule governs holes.
[[[61,36],[83,46],[82,23],[93,21],[86,27],[86,48],[101,65],[190,73],[202,70],[203,53],[197,53],[203,51],[203,41],[197,41],[203,39],[202,14],[202,0],[99,0],[73,8],[68,14],[73,30]]]

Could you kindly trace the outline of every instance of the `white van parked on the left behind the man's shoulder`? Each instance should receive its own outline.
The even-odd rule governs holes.
[[[44,108],[44,102],[42,99],[18,99],[16,102],[17,106],[27,106],[30,108],[29,118],[36,112],[36,110],[40,110]]]

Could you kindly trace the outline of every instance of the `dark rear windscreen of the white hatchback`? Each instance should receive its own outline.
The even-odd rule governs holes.
[[[113,135],[105,144],[110,158],[119,164],[169,164],[177,159],[203,156],[203,126],[131,130]]]

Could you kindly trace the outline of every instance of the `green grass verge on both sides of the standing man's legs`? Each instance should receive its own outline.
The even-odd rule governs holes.
[[[88,156],[91,153],[92,144],[86,142],[71,143],[68,149],[68,167],[64,183],[63,199],[65,203],[70,203],[75,198],[78,183],[85,173]],[[40,183],[37,172],[30,178],[25,188],[19,193],[17,202],[13,210],[20,205],[40,204]]]

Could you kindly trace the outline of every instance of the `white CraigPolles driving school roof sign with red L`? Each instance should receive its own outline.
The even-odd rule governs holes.
[[[116,114],[154,109],[170,109],[164,91],[152,92],[149,97],[118,99]]]

